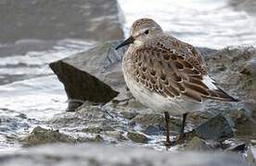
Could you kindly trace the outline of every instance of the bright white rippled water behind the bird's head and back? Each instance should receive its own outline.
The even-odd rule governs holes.
[[[256,44],[256,18],[225,0],[119,0],[127,32],[137,18],[153,18],[182,41],[209,48]]]

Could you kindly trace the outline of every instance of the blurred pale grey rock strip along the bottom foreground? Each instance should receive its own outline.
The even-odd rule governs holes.
[[[54,149],[54,150],[53,150]],[[71,150],[70,150],[71,149]],[[58,152],[57,152],[58,151]],[[50,145],[27,148],[6,155],[0,155],[1,166],[14,165],[179,165],[179,166],[246,166],[241,156],[209,152],[156,151],[150,148],[112,147],[85,144]]]

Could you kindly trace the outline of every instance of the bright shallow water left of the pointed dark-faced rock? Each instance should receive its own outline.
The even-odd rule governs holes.
[[[65,111],[65,90],[48,64],[94,43],[26,40],[0,48],[0,149],[19,147],[18,136]]]

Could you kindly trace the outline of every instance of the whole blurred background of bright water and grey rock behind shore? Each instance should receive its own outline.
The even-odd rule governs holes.
[[[0,0],[0,150],[65,111],[50,62],[123,39],[143,17],[198,47],[256,43],[254,0]]]

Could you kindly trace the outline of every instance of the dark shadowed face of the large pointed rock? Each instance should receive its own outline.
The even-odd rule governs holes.
[[[111,89],[107,84],[72,65],[58,62],[58,64],[51,64],[50,66],[65,86],[70,99],[68,111],[75,110],[83,104],[83,101],[104,103],[118,95],[118,92]],[[78,100],[80,100],[80,103],[77,102]]]

